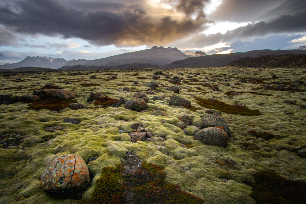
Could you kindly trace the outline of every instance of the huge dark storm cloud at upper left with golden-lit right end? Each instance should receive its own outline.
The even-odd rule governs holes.
[[[188,1],[180,2],[188,6]],[[193,5],[196,1],[189,2]],[[120,5],[124,7],[124,4]],[[100,46],[161,45],[203,29],[207,19],[196,6],[190,8],[189,11],[184,10],[185,17],[178,19],[153,16],[144,8],[126,7],[118,13],[92,12],[71,8],[56,0],[2,1],[0,24],[18,34],[61,35],[66,39],[80,38]],[[196,19],[190,17],[192,12],[196,12]]]

